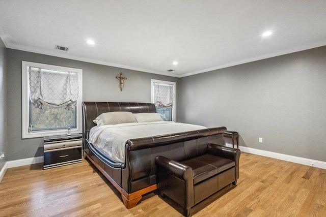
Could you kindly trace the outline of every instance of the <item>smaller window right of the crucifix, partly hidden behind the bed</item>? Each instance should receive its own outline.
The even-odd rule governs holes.
[[[175,82],[151,80],[152,103],[164,120],[175,121]]]

